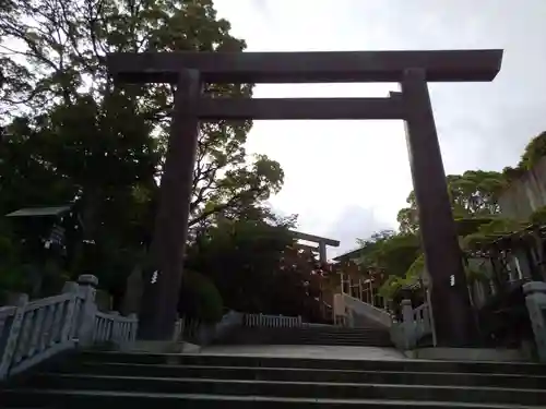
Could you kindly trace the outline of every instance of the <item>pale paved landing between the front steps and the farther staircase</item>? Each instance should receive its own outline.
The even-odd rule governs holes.
[[[341,347],[307,345],[248,345],[248,346],[212,346],[201,350],[206,354],[357,359],[357,360],[400,360],[406,357],[392,348],[378,347]]]

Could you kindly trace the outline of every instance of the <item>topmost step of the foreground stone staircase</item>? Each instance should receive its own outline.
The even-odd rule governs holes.
[[[232,354],[183,354],[139,352],[82,352],[73,360],[110,363],[192,364],[214,366],[264,366],[360,371],[503,373],[546,375],[546,365],[523,362],[461,362],[427,360],[348,360]]]

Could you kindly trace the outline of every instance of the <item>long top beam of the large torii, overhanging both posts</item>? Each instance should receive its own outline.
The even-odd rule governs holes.
[[[407,68],[426,81],[491,81],[502,50],[318,51],[318,52],[142,52],[110,53],[106,63],[127,83],[176,83],[183,69],[199,70],[209,83],[400,82]]]

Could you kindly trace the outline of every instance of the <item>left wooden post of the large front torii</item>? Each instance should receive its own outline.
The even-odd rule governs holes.
[[[170,340],[178,312],[198,148],[201,79],[195,70],[178,75],[170,135],[152,243],[152,268],[144,275],[139,337]]]

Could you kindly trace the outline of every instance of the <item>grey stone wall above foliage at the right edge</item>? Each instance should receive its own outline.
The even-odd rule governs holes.
[[[533,212],[546,206],[546,157],[510,184],[499,205],[503,216],[519,220],[529,219]]]

